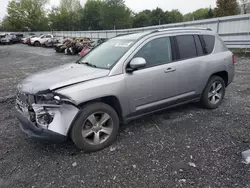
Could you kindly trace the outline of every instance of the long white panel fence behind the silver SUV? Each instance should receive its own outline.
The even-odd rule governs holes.
[[[91,39],[111,38],[116,35],[153,31],[173,27],[206,27],[217,32],[229,48],[250,48],[250,14],[213,18],[206,20],[166,24],[135,29],[99,30],[99,31],[53,31],[55,36],[88,37]],[[51,32],[36,32],[46,34]]]

